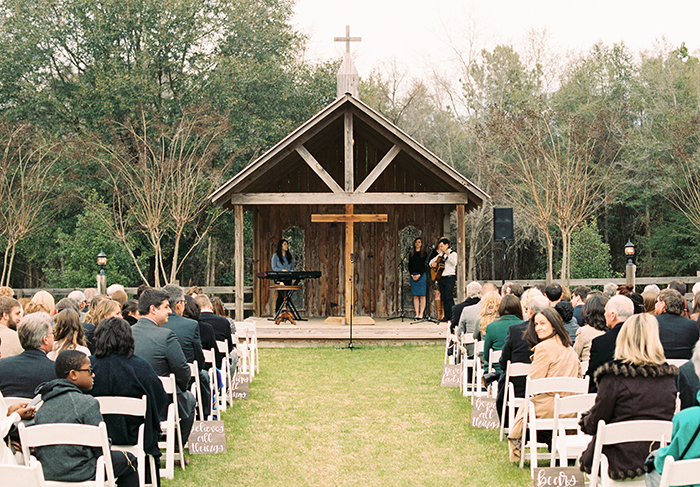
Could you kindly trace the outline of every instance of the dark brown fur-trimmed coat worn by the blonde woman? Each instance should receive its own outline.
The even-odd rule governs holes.
[[[678,367],[632,365],[621,360],[607,362],[595,373],[598,396],[590,411],[581,416],[581,430],[594,435],[581,455],[581,470],[591,473],[598,421],[606,424],[635,420],[671,421],[676,408]],[[627,479],[644,475],[644,459],[658,448],[649,442],[621,443],[603,447],[608,458],[608,475]]]

